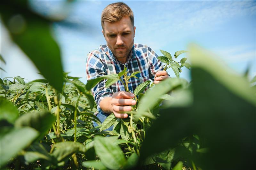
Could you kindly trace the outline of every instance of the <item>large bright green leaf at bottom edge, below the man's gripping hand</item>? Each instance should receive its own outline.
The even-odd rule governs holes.
[[[104,166],[109,169],[120,169],[126,164],[126,159],[121,148],[108,137],[95,136],[94,149]]]

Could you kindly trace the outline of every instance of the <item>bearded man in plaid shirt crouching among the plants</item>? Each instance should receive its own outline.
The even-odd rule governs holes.
[[[168,73],[163,70],[162,63],[157,59],[157,54],[148,46],[134,44],[135,30],[133,12],[129,6],[118,2],[109,4],[101,15],[102,33],[107,45],[88,54],[86,63],[87,80],[95,79],[102,75],[120,73],[124,66],[128,75],[135,71],[138,79],[131,78],[128,87],[131,92],[125,92],[124,84],[117,81],[109,88],[105,88],[106,80],[101,81],[92,89],[92,94],[98,106],[97,117],[103,122],[110,113],[117,118],[127,118],[126,113],[131,111],[133,90],[142,82],[149,79],[155,84],[168,78]],[[95,122],[94,126],[97,126]],[[112,128],[107,129],[112,130]]]

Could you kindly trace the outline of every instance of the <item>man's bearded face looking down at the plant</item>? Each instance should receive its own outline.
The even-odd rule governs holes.
[[[114,23],[104,22],[102,33],[117,60],[126,61],[134,43],[135,29],[128,16]]]

